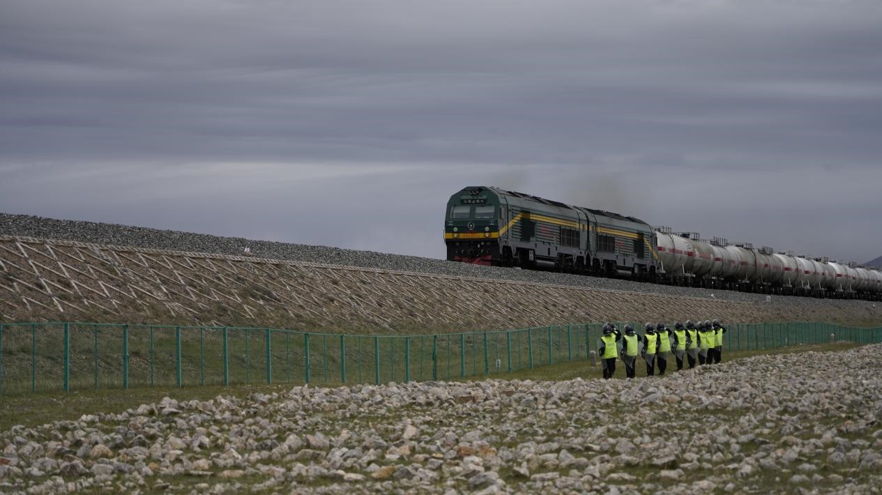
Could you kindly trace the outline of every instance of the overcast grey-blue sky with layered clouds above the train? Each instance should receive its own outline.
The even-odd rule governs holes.
[[[444,258],[497,185],[882,255],[878,0],[0,0],[0,212]]]

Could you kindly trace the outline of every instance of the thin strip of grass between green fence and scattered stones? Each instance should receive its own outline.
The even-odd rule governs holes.
[[[778,349],[759,349],[744,351],[724,351],[723,359],[741,359],[749,356],[789,354],[806,351],[842,351],[853,349],[857,344],[841,341],[835,344],[799,345]],[[676,372],[673,360],[669,372]],[[646,374],[645,367],[638,364],[638,378]],[[493,374],[494,379],[533,379],[533,380],[566,380],[566,379],[599,379],[602,372],[599,364],[590,362],[562,362],[551,366],[538,366],[532,370],[512,371],[511,373]],[[469,380],[484,379],[483,376],[470,377]],[[616,371],[617,379],[624,379],[624,364],[619,362]],[[0,431],[8,431],[13,425],[23,424],[31,427],[59,420],[73,420],[84,414],[121,413],[126,409],[137,407],[142,403],[158,402],[163,397],[171,397],[177,401],[213,399],[219,394],[245,397],[249,394],[285,392],[292,385],[235,385],[235,386],[133,386],[129,390],[75,390],[65,392],[35,392],[6,395],[0,397]]]

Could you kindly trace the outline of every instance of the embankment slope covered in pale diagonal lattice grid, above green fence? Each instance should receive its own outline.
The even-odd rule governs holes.
[[[0,294],[0,318],[7,322],[273,326],[373,334],[606,320],[807,320],[804,308],[788,311],[780,305],[24,236],[0,236]],[[824,320],[841,318],[830,314]]]

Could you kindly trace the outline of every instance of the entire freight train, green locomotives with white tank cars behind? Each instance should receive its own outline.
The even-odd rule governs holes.
[[[624,214],[494,186],[454,193],[447,259],[570,274],[765,294],[882,300],[882,272],[674,232]]]

